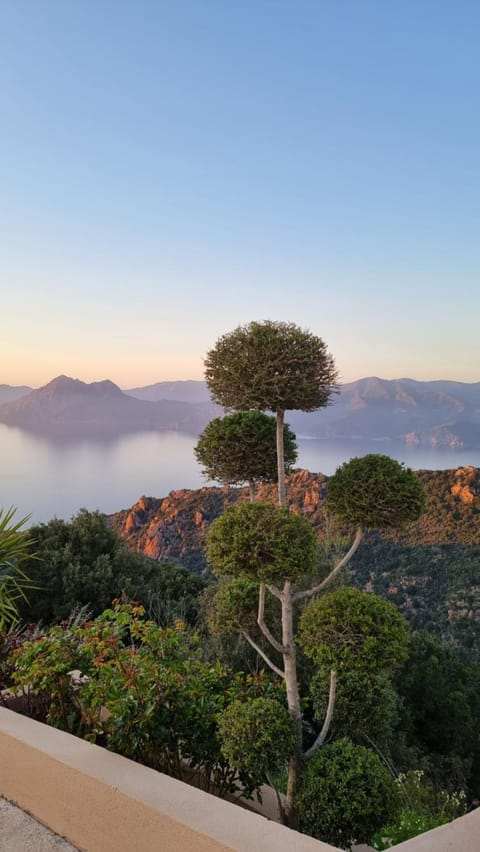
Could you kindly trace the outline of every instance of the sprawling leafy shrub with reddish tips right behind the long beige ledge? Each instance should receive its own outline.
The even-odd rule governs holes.
[[[222,753],[218,719],[232,701],[282,691],[262,673],[205,663],[183,622],[160,628],[143,607],[118,601],[26,642],[11,663],[18,685],[48,696],[50,724],[219,795],[257,790],[258,773]]]

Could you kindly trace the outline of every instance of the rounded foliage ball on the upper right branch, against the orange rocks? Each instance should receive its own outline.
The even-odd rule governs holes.
[[[370,453],[336,470],[328,480],[326,508],[342,523],[399,528],[420,517],[425,495],[413,471],[389,456]]]

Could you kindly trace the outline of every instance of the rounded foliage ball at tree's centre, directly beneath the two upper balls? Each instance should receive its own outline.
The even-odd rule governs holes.
[[[318,544],[306,518],[270,503],[231,506],[206,536],[214,574],[259,582],[297,580],[317,565]]]

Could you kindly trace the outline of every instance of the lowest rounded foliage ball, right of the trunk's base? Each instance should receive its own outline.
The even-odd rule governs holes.
[[[399,804],[395,782],[377,754],[346,738],[315,752],[295,797],[300,830],[341,849],[367,842],[396,816]]]

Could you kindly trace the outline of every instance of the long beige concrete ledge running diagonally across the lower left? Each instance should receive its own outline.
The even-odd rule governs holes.
[[[0,795],[86,852],[338,852],[4,708]]]

